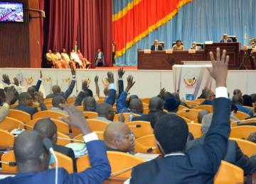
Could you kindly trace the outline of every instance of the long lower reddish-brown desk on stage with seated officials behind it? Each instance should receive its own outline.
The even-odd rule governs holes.
[[[165,50],[151,51],[145,54],[144,50],[138,50],[138,69],[172,69],[174,64],[182,64],[181,61],[204,61],[204,50],[197,50],[195,54],[188,50],[174,51],[166,54]]]

